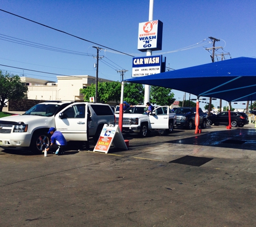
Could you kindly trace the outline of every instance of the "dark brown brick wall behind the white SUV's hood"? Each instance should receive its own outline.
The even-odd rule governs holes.
[[[45,102],[45,100],[10,100],[8,102],[8,111],[27,111],[41,102]]]

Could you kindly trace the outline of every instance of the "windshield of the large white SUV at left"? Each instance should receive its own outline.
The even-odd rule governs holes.
[[[27,110],[24,115],[37,115],[44,117],[53,116],[58,110],[60,105],[57,104],[37,104]]]

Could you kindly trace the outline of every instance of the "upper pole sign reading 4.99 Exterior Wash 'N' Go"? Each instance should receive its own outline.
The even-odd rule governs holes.
[[[139,24],[138,49],[160,51],[162,49],[163,23],[160,20]]]

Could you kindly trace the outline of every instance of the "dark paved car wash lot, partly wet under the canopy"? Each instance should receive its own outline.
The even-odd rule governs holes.
[[[1,226],[254,226],[255,137],[250,124],[124,135],[129,150],[108,154],[0,148]]]

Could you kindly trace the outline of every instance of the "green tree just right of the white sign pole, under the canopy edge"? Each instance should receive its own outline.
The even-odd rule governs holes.
[[[174,101],[174,93],[171,92],[170,88],[151,86],[150,103],[157,105],[171,105]]]

